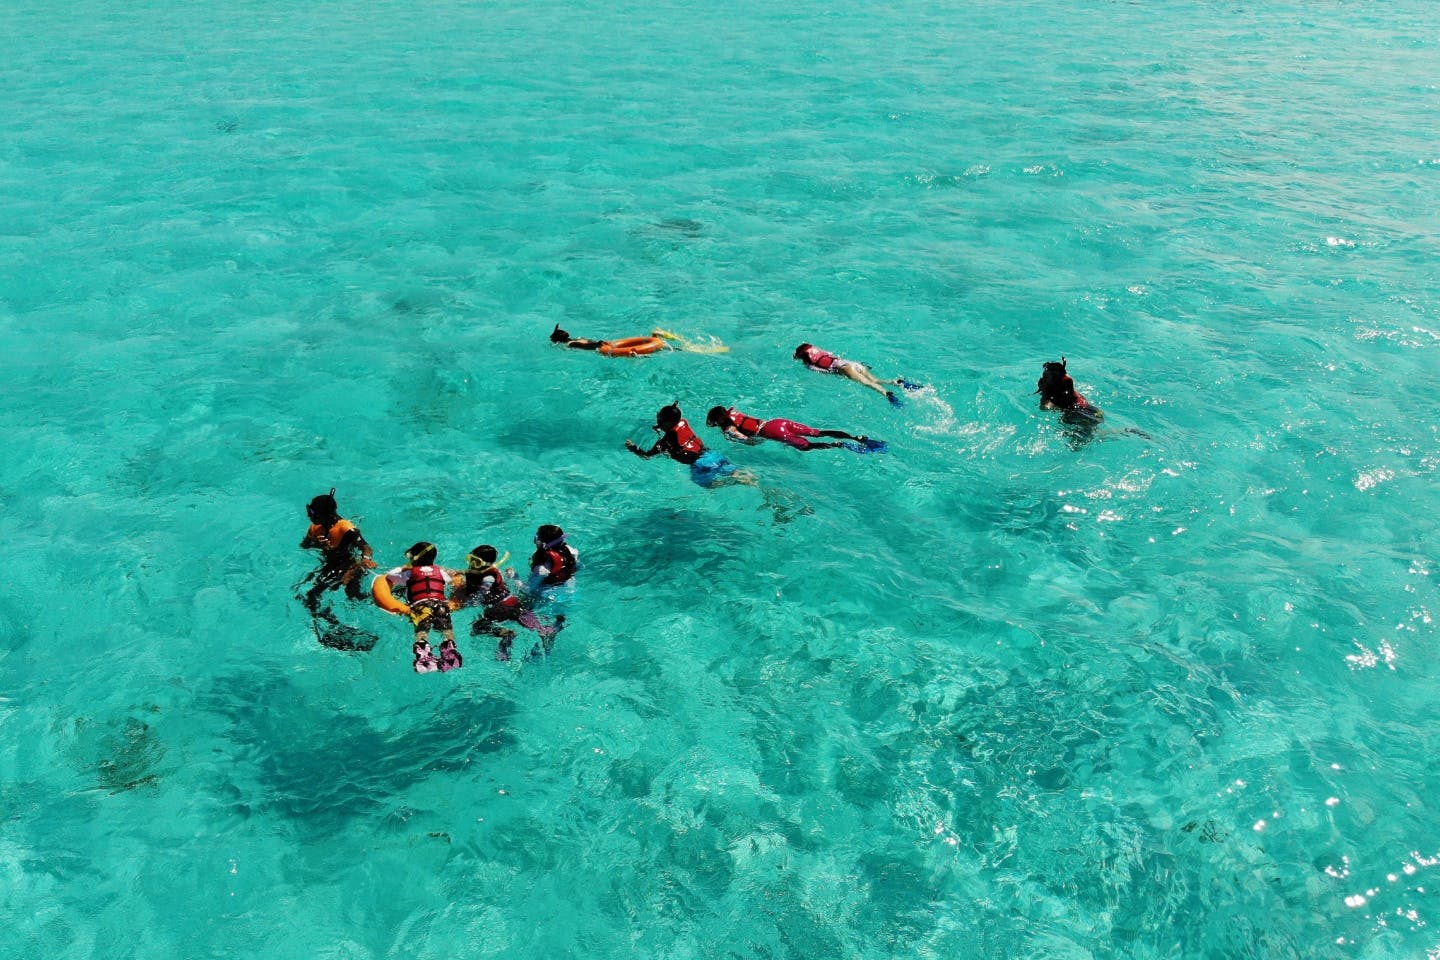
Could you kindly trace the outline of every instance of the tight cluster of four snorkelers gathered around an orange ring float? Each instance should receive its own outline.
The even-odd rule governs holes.
[[[310,530],[300,543],[301,548],[320,550],[320,567],[307,579],[308,590],[301,602],[315,619],[315,630],[330,646],[341,649],[369,649],[374,645],[357,643],[359,632],[346,628],[324,603],[324,594],[343,589],[351,600],[364,599],[360,581],[367,570],[376,569],[373,550],[360,528],[340,515],[336,491],[321,494],[305,507],[310,515]],[[416,543],[405,551],[406,563],[386,570],[374,577],[370,594],[387,613],[409,617],[415,628],[415,672],[448,672],[464,665],[455,643],[452,613],[475,609],[478,616],[471,623],[471,636],[494,636],[500,643],[495,658],[508,661],[517,632],[505,626],[518,625],[531,630],[537,642],[528,658],[550,653],[556,635],[564,628],[564,613],[556,613],[550,622],[541,620],[541,607],[563,606],[564,593],[573,589],[573,577],[580,566],[580,554],[572,547],[566,534],[554,524],[536,530],[534,553],[530,556],[530,574],[518,592],[513,592],[516,571],[501,571],[503,557],[491,544],[481,544],[469,551],[464,570],[451,570],[436,563],[439,551],[429,541]],[[439,651],[431,646],[431,632],[442,636]]]

